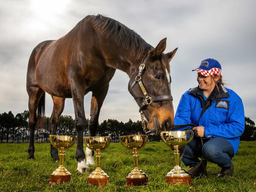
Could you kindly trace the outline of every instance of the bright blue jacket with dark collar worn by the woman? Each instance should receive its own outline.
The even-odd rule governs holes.
[[[241,98],[231,89],[219,85],[205,101],[199,87],[187,90],[178,105],[174,125],[204,126],[205,138],[225,138],[238,151],[239,137],[245,129]],[[185,128],[184,128],[185,129]]]

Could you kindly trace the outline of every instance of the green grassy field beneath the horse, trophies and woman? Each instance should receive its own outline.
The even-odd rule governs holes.
[[[126,189],[126,176],[133,169],[132,151],[111,143],[102,151],[101,168],[109,175],[105,188],[87,183],[88,173],[75,172],[76,146],[66,150],[64,166],[72,174],[69,184],[50,186],[50,174],[59,166],[50,157],[50,144],[35,144],[35,160],[28,160],[28,144],[0,144],[0,191],[256,191],[256,142],[241,142],[233,158],[235,172],[230,179],[217,179],[220,168],[208,163],[208,177],[193,179],[194,187],[168,185],[165,174],[174,166],[171,150],[163,142],[150,142],[139,150],[139,168],[148,175],[148,185]],[[90,166],[93,171],[96,166]],[[186,167],[183,165],[186,170]]]

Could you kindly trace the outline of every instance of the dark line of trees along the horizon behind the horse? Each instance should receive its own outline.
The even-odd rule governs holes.
[[[24,111],[14,114],[9,111],[0,114],[0,140],[3,142],[29,142],[30,130],[28,126],[30,113]],[[49,117],[43,118],[42,121],[37,123],[35,130],[35,142],[48,142],[49,137]],[[88,135],[88,122],[85,127],[84,135]],[[72,116],[61,115],[59,117],[59,126],[57,129],[58,135],[76,135],[75,131],[75,120]],[[113,142],[118,142],[118,138],[121,135],[134,135],[134,134],[145,134],[142,127],[141,121],[137,120],[133,122],[129,119],[128,122],[119,122],[115,119],[104,120],[98,125],[97,136],[110,136]],[[159,135],[149,134],[150,141],[160,141]],[[240,140],[256,140],[256,127],[255,123],[250,118],[245,117],[245,131],[241,135]]]

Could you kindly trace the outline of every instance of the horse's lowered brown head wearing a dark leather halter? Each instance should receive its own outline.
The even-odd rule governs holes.
[[[143,62],[145,65],[133,69],[128,85],[148,121],[148,130],[153,133],[170,130],[174,122],[169,62],[177,48],[164,54],[165,47],[166,38],[148,52]]]

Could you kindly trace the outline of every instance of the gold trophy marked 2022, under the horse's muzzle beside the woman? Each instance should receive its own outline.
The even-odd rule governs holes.
[[[189,140],[187,140],[187,133],[191,134]],[[180,147],[184,147],[188,144],[194,136],[193,131],[162,131],[161,138],[163,142],[174,150],[175,166],[166,176],[167,183],[189,183],[191,185],[191,175],[180,167]]]

